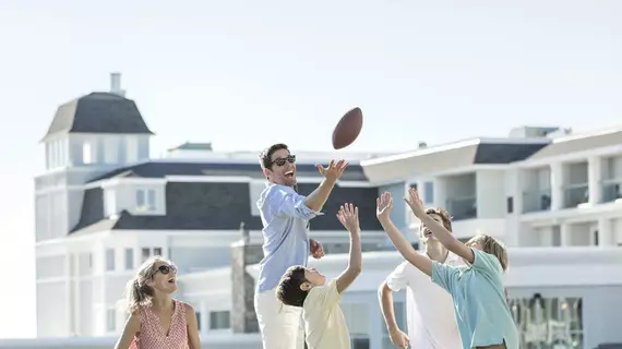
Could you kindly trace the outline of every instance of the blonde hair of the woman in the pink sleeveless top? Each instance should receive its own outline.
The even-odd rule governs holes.
[[[154,297],[153,287],[146,284],[154,276],[154,266],[158,262],[170,264],[168,260],[156,255],[145,261],[136,272],[136,276],[128,281],[125,293],[128,299],[128,312],[136,312],[141,306],[148,305]]]

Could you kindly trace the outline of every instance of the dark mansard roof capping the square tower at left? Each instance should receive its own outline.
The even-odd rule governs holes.
[[[92,93],[61,105],[43,141],[67,133],[154,134],[132,99]]]

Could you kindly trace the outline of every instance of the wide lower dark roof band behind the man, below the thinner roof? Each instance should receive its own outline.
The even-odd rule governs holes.
[[[318,184],[299,184],[301,194],[309,194]],[[166,215],[132,215],[122,210],[111,217],[104,212],[101,188],[84,192],[80,221],[70,234],[101,230],[238,230],[240,222],[251,230],[261,230],[260,217],[253,216],[249,183],[168,182],[165,186]],[[311,220],[312,230],[340,230],[335,218],[339,206],[352,202],[361,212],[361,229],[381,230],[375,218],[376,188],[336,186],[322,209],[325,215]]]

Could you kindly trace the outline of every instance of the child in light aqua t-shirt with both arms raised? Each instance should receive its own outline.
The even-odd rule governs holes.
[[[432,281],[452,294],[454,312],[464,349],[518,349],[518,333],[505,302],[502,274],[507,252],[494,238],[477,236],[466,244],[426,214],[417,191],[409,190],[406,203],[417,218],[451,252],[468,266],[451,266],[431,261],[415,251],[388,217],[393,208],[390,193],[378,200],[378,218],[395,248]]]

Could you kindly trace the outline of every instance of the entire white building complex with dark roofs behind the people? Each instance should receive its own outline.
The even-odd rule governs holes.
[[[194,304],[204,338],[252,332],[252,324],[236,324],[238,312],[252,311],[243,301],[251,286],[236,284],[242,279],[231,274],[231,244],[242,221],[249,244],[261,243],[256,154],[187,143],[149,159],[151,135],[118,75],[111,92],[59,108],[43,140],[46,170],[35,179],[39,337],[118,336],[124,285],[154,254],[180,267],[178,297]],[[312,164],[330,156],[298,154],[300,192],[320,180]],[[348,239],[333,214],[343,202],[357,204],[370,252],[344,297],[355,348],[391,348],[375,290],[400,260],[383,251],[391,246],[375,220],[375,196],[400,197],[409,185],[426,204],[453,214],[458,238],[482,230],[511,246],[513,311],[524,339],[540,346],[525,348],[622,342],[614,325],[622,321],[622,130],[574,135],[519,128],[504,139],[347,156],[355,164],[324,207],[327,215],[311,221],[328,256],[311,263],[328,276],[345,267],[339,253]],[[399,204],[393,218],[417,243],[417,219]],[[246,263],[256,262],[254,251]],[[255,274],[252,265],[247,270]]]

